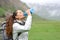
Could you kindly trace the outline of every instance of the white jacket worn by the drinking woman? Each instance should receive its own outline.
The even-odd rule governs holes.
[[[18,20],[18,22],[21,22]],[[13,24],[13,40],[16,40],[18,32],[22,32],[18,40],[28,40],[28,31],[31,29],[32,16],[28,16],[25,25]]]

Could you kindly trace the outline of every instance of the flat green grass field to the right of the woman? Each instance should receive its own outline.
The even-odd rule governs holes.
[[[29,40],[60,40],[60,21],[41,20],[33,17]]]

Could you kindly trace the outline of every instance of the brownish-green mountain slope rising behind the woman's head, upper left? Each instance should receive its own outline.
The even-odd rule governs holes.
[[[20,0],[0,0],[0,16],[4,16],[5,12],[13,12],[14,10],[26,10],[29,8],[25,3]]]

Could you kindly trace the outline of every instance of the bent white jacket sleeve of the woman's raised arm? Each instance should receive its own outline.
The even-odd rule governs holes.
[[[32,16],[28,16],[24,26],[19,25],[18,23],[14,23],[13,30],[16,32],[26,32],[30,30],[31,23],[32,23]]]

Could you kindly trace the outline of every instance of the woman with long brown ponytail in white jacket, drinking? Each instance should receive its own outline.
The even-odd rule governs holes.
[[[6,22],[6,34],[9,38],[13,38],[13,40],[28,40],[28,31],[31,28],[32,15],[30,10],[27,11],[27,19],[24,25],[20,25],[19,23],[24,22],[24,14],[21,10],[16,10],[12,16]],[[19,22],[16,23],[15,21]],[[18,33],[20,33],[18,35]]]

